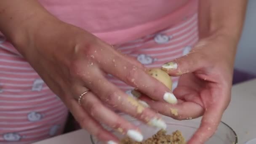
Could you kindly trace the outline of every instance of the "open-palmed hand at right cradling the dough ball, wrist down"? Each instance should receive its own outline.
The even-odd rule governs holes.
[[[192,51],[166,63],[162,69],[181,76],[174,90],[178,104],[166,104],[141,97],[152,109],[178,120],[203,115],[188,144],[203,144],[216,131],[231,98],[237,41],[227,35],[211,35],[200,40]]]

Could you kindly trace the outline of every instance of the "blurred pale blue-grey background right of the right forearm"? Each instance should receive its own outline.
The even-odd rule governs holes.
[[[249,0],[235,60],[234,83],[256,77],[256,0]]]

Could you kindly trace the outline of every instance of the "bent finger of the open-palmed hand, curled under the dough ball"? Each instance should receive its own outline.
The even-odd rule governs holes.
[[[167,104],[161,101],[153,101],[147,96],[141,96],[141,101],[146,102],[150,108],[156,110],[162,115],[172,117],[176,120],[188,120],[203,115],[203,107],[199,104],[189,101],[179,100],[178,104]]]

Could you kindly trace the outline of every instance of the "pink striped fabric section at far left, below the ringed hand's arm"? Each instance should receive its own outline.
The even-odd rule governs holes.
[[[0,37],[0,144],[30,144],[61,134],[67,108]]]

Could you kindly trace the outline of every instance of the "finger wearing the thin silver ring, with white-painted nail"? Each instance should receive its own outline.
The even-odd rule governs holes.
[[[112,128],[121,134],[126,134],[134,141],[143,140],[139,128],[105,107],[93,93],[86,93],[81,104],[82,107],[100,123],[107,125],[109,128]]]

